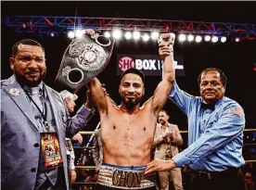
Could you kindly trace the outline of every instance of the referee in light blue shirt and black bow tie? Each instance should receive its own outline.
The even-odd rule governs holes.
[[[189,165],[194,174],[193,189],[243,189],[239,169],[245,164],[243,108],[224,96],[226,77],[222,70],[203,70],[198,85],[200,97],[186,94],[173,82],[169,96],[187,115],[188,147],[172,160],[151,161],[146,173]]]

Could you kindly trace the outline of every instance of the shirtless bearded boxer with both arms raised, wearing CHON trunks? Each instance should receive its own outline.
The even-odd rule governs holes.
[[[122,73],[119,86],[122,104],[119,107],[104,94],[96,78],[90,82],[89,89],[100,115],[103,146],[103,164],[99,169],[96,189],[157,189],[152,176],[145,176],[144,171],[150,161],[160,109],[174,82],[171,77],[174,72],[174,34],[163,33],[160,37],[162,81],[141,108],[139,103],[145,93],[145,77],[141,71],[129,69]]]

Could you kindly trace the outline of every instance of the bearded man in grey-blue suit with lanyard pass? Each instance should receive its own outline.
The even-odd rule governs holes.
[[[14,44],[9,60],[14,75],[1,81],[2,189],[68,189],[65,137],[90,120],[90,97],[70,118],[61,95],[43,82],[45,50],[33,40]],[[58,150],[51,156],[49,143]]]

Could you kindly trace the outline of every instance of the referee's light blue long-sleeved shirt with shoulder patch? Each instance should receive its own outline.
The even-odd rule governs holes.
[[[186,113],[188,122],[188,147],[173,158],[177,167],[225,171],[245,164],[245,114],[236,101],[224,96],[213,109],[204,108],[202,97],[186,94],[176,82],[169,97]]]

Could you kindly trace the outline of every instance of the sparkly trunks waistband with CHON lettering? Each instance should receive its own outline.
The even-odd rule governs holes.
[[[98,172],[97,184],[120,189],[143,189],[155,186],[155,176],[144,175],[146,166],[116,166],[103,163]]]

